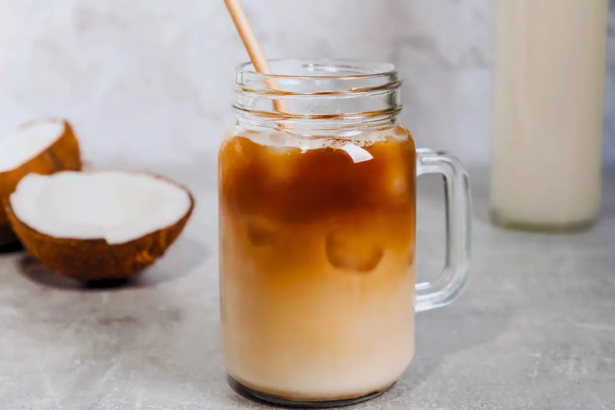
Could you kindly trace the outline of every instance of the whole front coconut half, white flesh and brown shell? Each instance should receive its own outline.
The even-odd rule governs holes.
[[[26,250],[79,280],[125,278],[165,253],[192,214],[194,198],[161,176],[121,171],[30,174],[7,202]]]

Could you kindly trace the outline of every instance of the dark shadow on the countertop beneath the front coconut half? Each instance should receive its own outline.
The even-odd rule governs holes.
[[[189,237],[179,237],[169,250],[148,269],[138,275],[123,279],[92,280],[82,282],[47,269],[41,261],[25,254],[19,261],[20,274],[44,286],[64,290],[111,290],[121,288],[147,288],[159,283],[184,277],[207,259],[209,251]]]

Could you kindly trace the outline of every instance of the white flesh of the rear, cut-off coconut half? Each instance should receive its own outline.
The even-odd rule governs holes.
[[[63,135],[61,119],[31,122],[0,135],[0,172],[12,171],[38,156]]]

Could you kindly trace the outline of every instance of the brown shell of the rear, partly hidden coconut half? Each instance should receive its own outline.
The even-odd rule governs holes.
[[[26,123],[20,128],[29,125],[31,123]],[[49,175],[57,171],[81,171],[79,141],[77,141],[73,127],[66,120],[64,121],[64,132],[47,149],[14,170],[0,172],[0,202],[6,200],[15,191],[19,181],[29,173]],[[11,231],[7,214],[0,207],[0,245],[16,239],[17,237]]]

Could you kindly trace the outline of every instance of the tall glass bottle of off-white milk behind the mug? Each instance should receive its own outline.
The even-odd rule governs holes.
[[[578,231],[600,209],[608,0],[499,0],[491,218]]]

